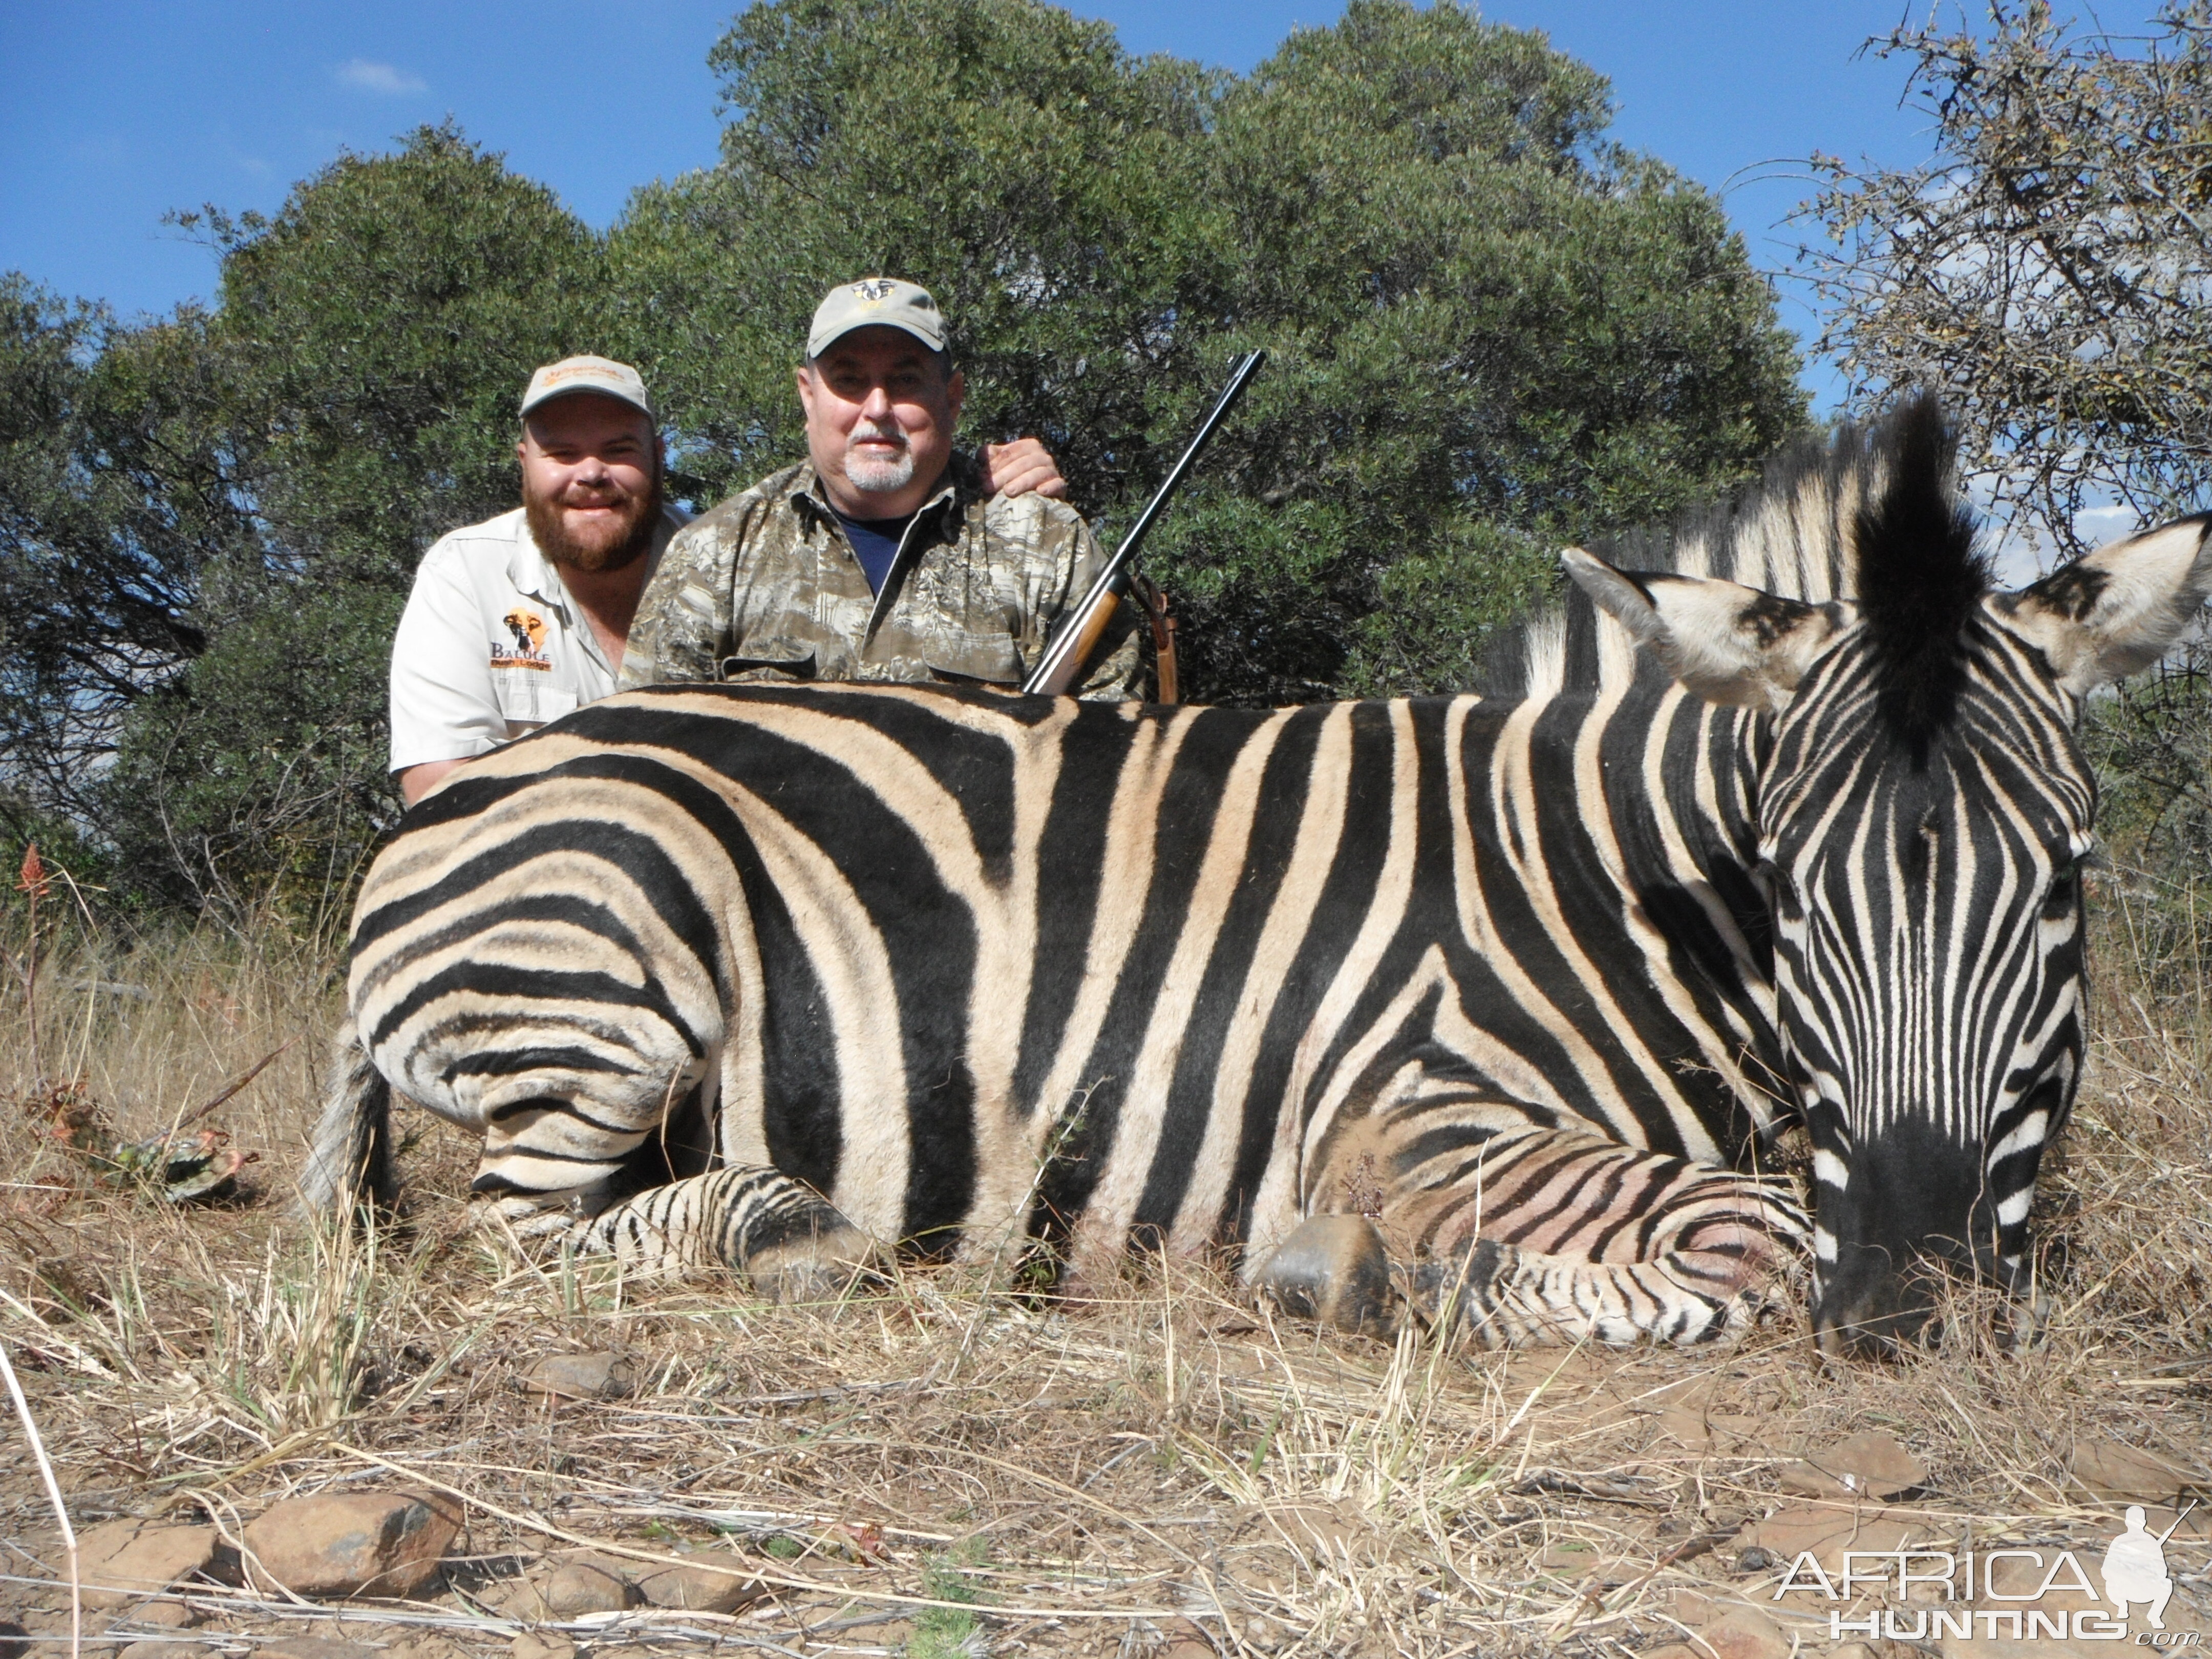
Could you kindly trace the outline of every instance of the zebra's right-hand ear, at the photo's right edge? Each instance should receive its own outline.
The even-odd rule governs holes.
[[[2212,591],[2212,513],[2181,518],[2062,564],[1991,606],[2081,697],[2148,668],[2197,619]]]

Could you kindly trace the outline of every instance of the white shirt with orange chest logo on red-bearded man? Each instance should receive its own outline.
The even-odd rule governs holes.
[[[653,564],[684,522],[661,511]],[[518,507],[422,555],[392,639],[392,770],[487,754],[613,690],[591,619]]]

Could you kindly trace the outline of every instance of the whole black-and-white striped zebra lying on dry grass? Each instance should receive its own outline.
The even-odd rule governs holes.
[[[1352,1329],[1690,1345],[1809,1248],[1851,1354],[1922,1263],[2026,1294],[2073,728],[2197,613],[2205,520],[1995,593],[1916,398],[1608,551],[1670,568],[1566,551],[1482,695],[661,686],[511,743],[365,878],[305,1194],[389,1194],[396,1091],[518,1237],[783,1296],[1232,1245]]]

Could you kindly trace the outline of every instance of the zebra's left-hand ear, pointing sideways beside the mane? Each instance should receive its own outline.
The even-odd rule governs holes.
[[[1710,703],[1781,708],[1812,659],[1851,619],[1851,606],[1783,599],[1739,582],[1615,571],[1579,546],[1566,549],[1559,562],[1683,690]]]

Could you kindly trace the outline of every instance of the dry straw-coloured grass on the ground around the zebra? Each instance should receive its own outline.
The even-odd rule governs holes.
[[[42,1051],[122,1139],[279,1051],[208,1117],[261,1152],[259,1197],[179,1210],[95,1179],[27,1110],[42,1093],[9,995],[0,1340],[80,1526],[168,1509],[234,1528],[361,1482],[467,1498],[473,1566],[436,1601],[332,1626],[210,1588],[197,1635],[232,1650],[303,1628],[416,1659],[504,1648],[518,1626],[487,1584],[575,1542],[734,1555],[768,1590],[728,1617],[568,1628],[606,1648],[1641,1650],[1681,1639],[1699,1593],[1772,1608],[1736,1533],[1783,1502],[1787,1455],[1843,1433],[1905,1440],[1931,1471],[1920,1509],[1982,1546],[2101,1548],[2108,1511],[2066,1484],[2077,1438],[2212,1442],[2212,1367],[2188,1365],[2212,1345],[2212,1004],[2157,960],[2139,896],[2106,887],[2093,1071],[2044,1199],[2057,1310],[2026,1354],[1960,1292],[1942,1345],[1893,1367],[1827,1371],[1790,1327],[1725,1354],[1467,1358],[1272,1321],[1188,1263],[1082,1305],[940,1270],[776,1310],[513,1259],[440,1197],[469,1148],[438,1126],[409,1152],[409,1230],[312,1237],[285,1197],[334,991],[321,962],[217,938],[69,947]],[[562,1349],[628,1354],[635,1396],[522,1394]],[[0,1599],[51,1632],[51,1520],[20,1444],[4,1458]]]

